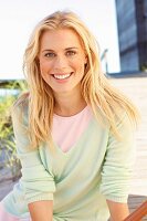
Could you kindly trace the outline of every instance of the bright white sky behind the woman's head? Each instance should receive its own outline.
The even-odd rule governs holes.
[[[56,10],[73,10],[108,49],[109,72],[119,71],[115,0],[0,0],[0,78],[22,78],[22,57],[34,25]],[[103,62],[103,70],[105,64]]]

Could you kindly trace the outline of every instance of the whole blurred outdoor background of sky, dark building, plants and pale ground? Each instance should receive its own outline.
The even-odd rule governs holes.
[[[21,176],[10,107],[27,91],[22,60],[29,36],[41,19],[66,9],[93,32],[103,72],[141,114],[129,198],[133,211],[147,199],[147,0],[0,0],[0,199]]]

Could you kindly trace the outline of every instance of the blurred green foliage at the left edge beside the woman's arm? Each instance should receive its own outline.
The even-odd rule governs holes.
[[[11,107],[17,97],[27,90],[27,84],[23,81],[14,81],[3,88],[9,90],[9,93],[0,97],[0,169],[9,167],[12,178],[15,179],[20,176],[20,161],[15,151]]]

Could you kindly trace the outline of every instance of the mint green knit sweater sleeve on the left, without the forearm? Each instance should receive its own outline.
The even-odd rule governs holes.
[[[55,191],[54,177],[44,167],[40,156],[40,148],[30,150],[27,122],[25,109],[20,108],[20,106],[14,107],[12,123],[17,152],[22,166],[20,185],[24,191],[24,200],[27,203],[53,200],[53,192]]]

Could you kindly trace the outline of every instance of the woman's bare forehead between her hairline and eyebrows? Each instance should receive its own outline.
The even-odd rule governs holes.
[[[82,46],[82,40],[72,29],[45,30],[40,39],[41,48],[44,46]]]

